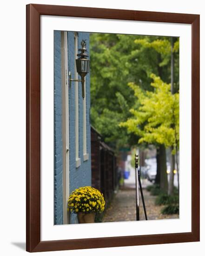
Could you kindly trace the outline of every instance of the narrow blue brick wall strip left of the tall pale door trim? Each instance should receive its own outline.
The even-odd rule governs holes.
[[[54,31],[54,224],[63,223],[61,32]]]

